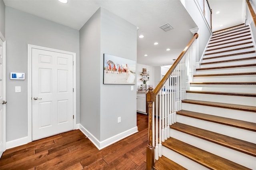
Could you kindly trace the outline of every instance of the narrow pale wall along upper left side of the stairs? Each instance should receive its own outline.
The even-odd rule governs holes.
[[[198,26],[198,34],[199,37],[197,39],[199,54],[197,55],[196,62],[198,62],[204,53],[204,49],[208,43],[210,36],[212,35],[212,31],[208,29],[206,23],[204,22],[204,18],[200,13],[200,9],[196,6],[196,2],[194,0],[185,0],[186,10]]]

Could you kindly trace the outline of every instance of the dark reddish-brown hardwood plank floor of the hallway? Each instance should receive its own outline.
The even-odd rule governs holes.
[[[0,170],[145,170],[148,116],[137,113],[137,133],[98,150],[71,130],[6,150]]]

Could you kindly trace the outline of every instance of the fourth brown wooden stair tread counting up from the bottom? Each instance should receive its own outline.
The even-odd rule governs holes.
[[[204,113],[198,113],[198,112],[192,112],[192,111],[186,111],[181,110],[177,112],[178,115],[183,115],[186,117],[192,117],[195,119],[200,119],[204,121],[214,122],[222,125],[227,125],[230,127],[236,127],[236,128],[242,128],[245,130],[250,130],[256,132],[256,123],[252,122],[246,122],[226,117],[220,117],[220,116],[214,116],[214,115],[208,115]],[[256,146],[256,145],[255,145]],[[254,148],[256,149],[256,148]],[[256,150],[255,150],[256,151]]]

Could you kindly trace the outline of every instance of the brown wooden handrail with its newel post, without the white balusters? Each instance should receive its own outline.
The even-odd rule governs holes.
[[[148,88],[149,91],[146,94],[146,99],[148,102],[148,146],[146,148],[146,162],[147,162],[146,169],[147,170],[152,170],[152,168],[154,166],[154,160],[155,160],[155,157],[154,157],[155,156],[155,148],[153,146],[153,119],[154,119],[153,109],[152,109],[153,102],[156,99],[156,95],[160,92],[160,90],[164,86],[164,83],[170,77],[170,75],[172,74],[172,72],[174,71],[174,69],[176,68],[178,63],[181,61],[181,59],[184,56],[184,54],[186,53],[186,51],[192,45],[194,40],[196,40],[196,38],[198,38],[198,33],[194,34],[192,40],[190,40],[190,42],[185,47],[185,49],[180,53],[180,56],[178,57],[178,59],[176,59],[176,61],[172,65],[172,67],[167,71],[166,75],[162,78],[160,83],[158,83],[158,85],[156,86],[156,89],[154,89],[154,91],[153,91],[152,87]]]

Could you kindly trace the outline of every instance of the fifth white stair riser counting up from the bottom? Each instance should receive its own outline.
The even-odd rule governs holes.
[[[186,93],[186,99],[255,106],[256,97]],[[256,114],[256,113],[255,113]]]

